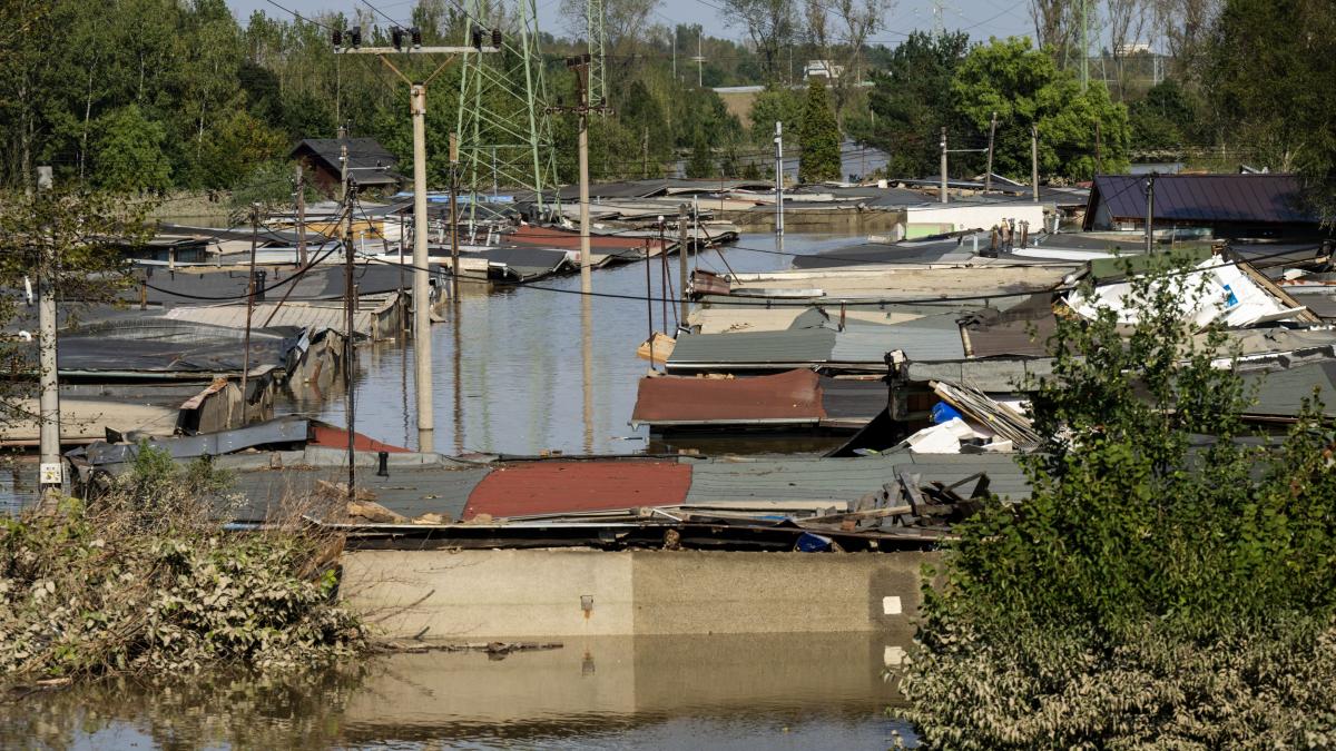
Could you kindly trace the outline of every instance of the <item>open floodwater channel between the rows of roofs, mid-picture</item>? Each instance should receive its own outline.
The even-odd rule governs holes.
[[[848,237],[744,234],[736,246],[691,259],[713,271],[787,269],[794,254],[850,243]],[[780,245],[782,243],[782,245]],[[663,298],[664,263],[651,259],[651,297]],[[667,259],[669,290],[679,290],[677,258]],[[589,337],[582,323],[580,278],[561,277],[524,287],[488,291],[462,285],[458,315],[446,305],[446,322],[432,327],[436,450],[537,454],[632,453],[648,448],[648,429],[629,426],[639,378],[649,362],[636,347],[653,330],[672,333],[677,306],[645,305],[645,263],[593,271]],[[672,291],[667,297],[675,297]],[[664,325],[667,314],[668,325]],[[584,350],[589,350],[585,374]],[[399,343],[363,346],[355,378],[357,430],[373,438],[418,448],[413,349]],[[278,409],[306,412],[343,424],[342,396],[323,402],[291,401]],[[675,441],[653,450],[687,448]],[[709,450],[820,452],[839,438],[796,444],[768,440],[709,442]]]

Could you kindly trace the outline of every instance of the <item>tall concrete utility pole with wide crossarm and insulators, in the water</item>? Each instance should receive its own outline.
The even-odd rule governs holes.
[[[394,47],[362,47],[361,29],[355,33],[345,35],[342,31],[334,32],[334,52],[339,55],[375,55],[385,67],[394,71],[399,79],[409,84],[409,114],[413,118],[413,359],[414,359],[414,389],[417,392],[417,424],[418,424],[418,450],[436,450],[436,418],[432,412],[432,315],[429,302],[429,275],[426,239],[426,86],[432,83],[441,71],[445,69],[457,55],[494,53],[501,49],[501,35],[493,31],[492,47],[484,47],[485,36],[476,29],[473,47],[422,47],[422,32],[418,28],[407,29],[411,45],[403,45],[403,31],[395,27],[390,37],[395,40]],[[347,40],[350,44],[345,45]],[[403,75],[389,55],[449,55],[449,57],[436,67],[432,75],[422,83],[415,83]]]

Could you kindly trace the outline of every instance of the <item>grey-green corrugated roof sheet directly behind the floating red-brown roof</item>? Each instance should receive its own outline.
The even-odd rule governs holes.
[[[700,370],[787,370],[826,362],[835,349],[830,329],[684,334],[668,357],[676,373]]]

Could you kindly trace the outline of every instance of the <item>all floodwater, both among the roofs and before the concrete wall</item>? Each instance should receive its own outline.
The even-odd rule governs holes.
[[[780,247],[772,235],[748,234],[692,266],[784,269],[788,254],[847,242],[791,235]],[[676,290],[677,259],[667,266]],[[656,298],[661,269],[657,259],[649,265]],[[648,370],[635,350],[648,337],[651,313],[655,330],[675,329],[676,306],[655,302],[647,311],[644,263],[596,270],[593,286],[624,297],[593,298],[587,307],[570,294],[578,277],[496,291],[464,287],[458,315],[449,311],[432,330],[436,450],[647,449],[647,432],[628,426],[637,380]],[[361,347],[359,432],[417,448],[413,367],[411,347]],[[346,416],[342,394],[289,400],[278,412],[335,424]],[[715,440],[705,450],[824,448],[820,440]],[[24,496],[29,485],[24,472],[0,472],[0,498]],[[887,715],[899,696],[883,680],[887,657],[907,645],[907,635],[866,633],[569,639],[561,649],[504,660],[399,653],[290,680],[102,683],[0,703],[0,748],[876,750],[910,732]]]

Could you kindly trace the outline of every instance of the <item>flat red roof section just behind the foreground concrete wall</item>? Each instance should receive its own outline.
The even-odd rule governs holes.
[[[469,494],[464,518],[679,505],[691,466],[667,461],[540,461],[500,468]]]

